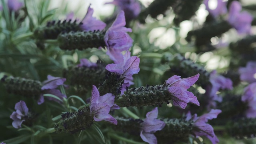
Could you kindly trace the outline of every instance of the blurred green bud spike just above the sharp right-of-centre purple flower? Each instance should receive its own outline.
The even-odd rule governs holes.
[[[206,86],[210,83],[210,73],[207,72],[204,66],[186,59],[180,54],[177,54],[174,59],[169,62],[172,74],[181,76],[182,78],[188,78],[196,74],[200,74],[200,77],[196,81],[196,84],[200,86]]]

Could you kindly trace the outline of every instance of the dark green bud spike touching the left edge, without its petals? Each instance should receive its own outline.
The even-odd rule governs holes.
[[[42,83],[37,80],[4,76],[1,82],[4,83],[6,90],[11,94],[33,97],[35,99],[38,99],[41,94]]]

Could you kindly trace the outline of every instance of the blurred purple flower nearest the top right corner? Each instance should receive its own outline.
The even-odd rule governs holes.
[[[237,30],[238,33],[249,34],[253,17],[248,12],[240,12],[242,6],[238,1],[233,1],[229,8],[228,22]]]

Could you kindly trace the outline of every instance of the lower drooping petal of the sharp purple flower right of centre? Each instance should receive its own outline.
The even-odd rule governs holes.
[[[182,90],[180,87],[170,87],[168,88],[169,92],[173,95],[172,101],[175,106],[180,106],[181,108],[185,109],[187,103],[189,102],[188,95],[186,92]]]

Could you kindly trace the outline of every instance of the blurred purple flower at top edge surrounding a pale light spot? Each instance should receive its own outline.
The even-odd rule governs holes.
[[[209,6],[210,0],[204,0],[204,5],[206,6],[206,10],[214,17],[219,16],[220,14],[226,14],[228,12],[227,10],[227,2],[224,2],[223,0],[217,0],[217,7],[215,9],[210,9]]]

